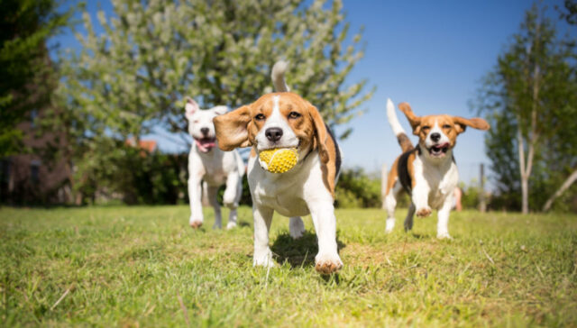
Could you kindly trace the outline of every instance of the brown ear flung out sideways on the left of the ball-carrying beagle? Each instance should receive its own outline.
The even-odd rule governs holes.
[[[251,123],[250,107],[244,105],[233,112],[215,116],[216,140],[218,148],[224,151],[234,150],[238,147],[249,147],[248,125]]]

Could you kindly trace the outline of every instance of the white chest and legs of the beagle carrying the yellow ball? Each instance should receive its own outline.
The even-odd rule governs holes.
[[[302,236],[305,231],[300,216],[311,214],[318,237],[316,264],[343,265],[336,245],[334,200],[323,182],[318,152],[286,173],[275,174],[261,169],[256,157],[249,159],[249,186],[254,214],[254,265],[271,266],[269,229],[272,214],[290,217],[290,235]]]

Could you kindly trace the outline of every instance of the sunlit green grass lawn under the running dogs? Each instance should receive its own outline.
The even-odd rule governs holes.
[[[275,217],[268,273],[249,208],[234,231],[212,210],[193,231],[186,206],[2,208],[0,325],[577,325],[576,216],[453,213],[438,241],[435,217],[405,233],[403,214],[386,235],[383,211],[337,210],[344,268],[326,278],[310,218],[291,241]]]

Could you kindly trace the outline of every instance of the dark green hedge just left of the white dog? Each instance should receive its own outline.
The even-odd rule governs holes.
[[[148,153],[111,138],[90,144],[78,160],[75,191],[82,203],[177,204],[187,198],[186,155]],[[99,153],[100,156],[93,156]]]

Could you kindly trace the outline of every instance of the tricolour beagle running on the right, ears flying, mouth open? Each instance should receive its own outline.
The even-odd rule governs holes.
[[[478,117],[466,119],[446,114],[419,117],[413,113],[408,103],[402,103],[398,108],[407,116],[413,134],[418,136],[418,143],[413,146],[409,141],[398,123],[395,105],[389,99],[387,116],[403,154],[395,159],[389,171],[385,196],[388,214],[386,232],[391,232],[395,226],[397,197],[404,189],[411,197],[405,231],[412,229],[414,214],[426,217],[431,214],[432,209],[436,209],[437,238],[451,238],[447,225],[453,206],[453,191],[459,181],[453,147],[457,135],[465,132],[467,126],[489,130],[489,123]]]

